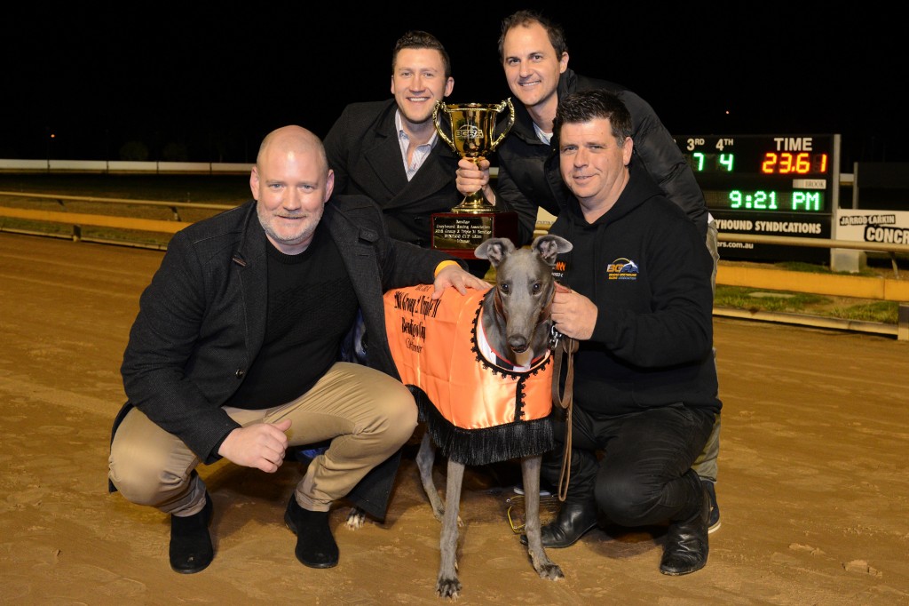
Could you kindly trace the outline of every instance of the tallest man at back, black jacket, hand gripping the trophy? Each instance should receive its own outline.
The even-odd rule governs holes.
[[[516,211],[521,219],[521,243],[529,243],[538,209],[542,207],[558,216],[573,197],[559,175],[558,154],[550,145],[559,99],[578,90],[612,91],[631,113],[635,162],[697,226],[714,258],[712,281],[715,282],[719,260],[716,224],[707,211],[694,172],[654,108],[624,86],[575,74],[568,67],[568,46],[562,28],[534,11],[521,10],[504,18],[499,60],[508,86],[520,103],[514,104],[514,126],[496,149],[495,189],[489,182],[488,160],[480,167],[462,160],[457,169],[458,190],[466,195],[482,187],[487,200]],[[720,527],[714,489],[719,450],[720,417],[717,416],[704,452],[694,463],[694,470],[711,498],[711,532]]]

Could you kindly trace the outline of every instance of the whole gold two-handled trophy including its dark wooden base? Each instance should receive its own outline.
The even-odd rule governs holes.
[[[496,136],[496,118],[506,107],[509,110],[508,123]],[[439,122],[440,111],[445,112],[451,120],[449,133],[445,132],[445,125]],[[511,130],[514,125],[514,106],[511,98],[491,105],[465,103],[449,106],[436,101],[433,124],[435,131],[455,154],[478,165],[481,159],[502,143]],[[518,243],[517,213],[494,207],[483,196],[482,189],[465,196],[450,213],[435,213],[432,222],[433,247],[445,250],[455,257],[475,258],[474,248],[490,237],[509,237],[515,244]]]

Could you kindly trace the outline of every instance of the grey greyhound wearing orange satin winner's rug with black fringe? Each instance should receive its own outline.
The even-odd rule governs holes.
[[[442,522],[440,597],[456,599],[461,591],[455,551],[466,465],[521,460],[530,561],[541,578],[564,578],[543,548],[539,487],[542,454],[553,447],[552,269],[556,256],[571,248],[550,235],[535,238],[529,248],[491,238],[474,255],[495,268],[494,288],[467,296],[449,289],[437,301],[429,297],[431,285],[385,294],[389,345],[426,422],[416,464]],[[433,481],[436,449],[448,458],[445,503]],[[357,525],[352,512],[348,526]]]

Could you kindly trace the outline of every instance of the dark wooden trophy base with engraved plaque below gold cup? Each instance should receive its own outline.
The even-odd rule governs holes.
[[[518,242],[517,213],[510,210],[435,213],[432,223],[433,248],[457,258],[476,258],[474,248],[490,237]]]

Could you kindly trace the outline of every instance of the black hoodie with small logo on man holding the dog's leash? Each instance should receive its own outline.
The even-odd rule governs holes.
[[[704,237],[639,163],[603,217],[572,199],[549,229],[567,238],[557,275],[596,304],[593,336],[574,356],[574,403],[601,414],[685,406],[719,411],[713,259]]]

